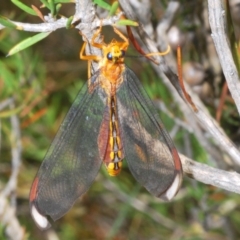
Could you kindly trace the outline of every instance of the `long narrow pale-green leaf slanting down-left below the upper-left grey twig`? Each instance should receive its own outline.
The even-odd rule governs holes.
[[[34,35],[33,37],[29,37],[23,41],[21,41],[20,43],[18,43],[17,45],[15,45],[9,52],[8,52],[8,56],[11,56],[17,52],[22,51],[25,48],[30,47],[31,45],[41,41],[42,39],[46,38],[51,32],[43,32],[43,33],[38,33],[36,35]]]

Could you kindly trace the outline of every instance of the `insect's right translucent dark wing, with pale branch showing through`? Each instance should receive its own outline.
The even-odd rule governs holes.
[[[117,106],[130,171],[151,194],[170,200],[182,180],[177,150],[136,75],[126,67],[123,78]]]

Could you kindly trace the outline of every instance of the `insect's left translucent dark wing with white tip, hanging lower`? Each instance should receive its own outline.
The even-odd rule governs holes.
[[[46,215],[63,216],[95,179],[102,160],[98,133],[105,95],[98,73],[91,78],[92,90],[83,86],[37,173],[30,192],[31,213],[41,228],[49,227]]]

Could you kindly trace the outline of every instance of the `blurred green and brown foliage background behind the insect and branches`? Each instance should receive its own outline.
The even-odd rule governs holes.
[[[24,3],[40,6],[37,0]],[[153,26],[161,20],[167,4],[168,1],[151,1]],[[238,5],[234,5],[234,11],[237,10]],[[98,11],[101,15],[101,9]],[[237,21],[234,11],[232,16]],[[43,12],[46,14],[48,11]],[[0,2],[0,14],[14,21],[41,22],[37,17],[23,13],[10,1]],[[65,4],[61,14],[74,14],[74,4]],[[173,52],[173,39],[182,45],[186,80],[213,116],[220,113],[221,126],[238,144],[239,116],[230,95],[226,96],[224,106],[219,108],[225,81],[211,41],[207,17],[203,1],[181,1],[173,27],[169,30],[169,41]],[[144,19],[140,20],[144,22]],[[235,23],[231,26],[239,40],[239,23]],[[109,177],[102,167],[90,190],[63,218],[53,223],[52,229],[42,233],[30,217],[29,189],[61,121],[87,80],[87,63],[79,60],[82,37],[76,29],[57,30],[38,44],[5,57],[16,43],[32,35],[34,33],[13,29],[0,31],[0,103],[14,98],[14,106],[2,110],[8,114],[0,115],[0,190],[5,188],[12,171],[11,115],[17,112],[22,163],[17,189],[9,194],[4,208],[6,211],[7,206],[16,208],[16,218],[25,231],[25,239],[240,239],[240,198],[237,194],[185,177],[177,197],[165,203],[139,186],[126,164],[115,178]],[[114,36],[110,27],[105,28],[104,35],[106,40]],[[129,55],[134,54],[138,55],[130,49]],[[154,102],[165,103],[174,117],[182,119],[171,93],[148,61],[127,58],[126,63],[136,72]],[[194,134],[176,127],[174,118],[164,111],[160,115],[181,153],[209,165],[216,164],[208,159]],[[217,166],[232,169],[227,160],[217,163]],[[8,239],[6,222],[0,214],[0,239]]]

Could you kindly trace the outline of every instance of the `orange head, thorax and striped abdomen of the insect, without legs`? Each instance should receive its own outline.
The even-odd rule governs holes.
[[[128,42],[117,42],[115,39],[107,46],[102,46],[103,58],[99,62],[100,85],[105,90],[108,99],[108,112],[104,113],[103,122],[98,136],[100,155],[111,176],[120,173],[124,158],[122,140],[117,119],[116,91],[123,82],[122,73],[125,70],[123,54],[127,50]],[[109,57],[111,60],[109,60]],[[109,117],[108,117],[109,116]],[[107,127],[106,125],[109,125]],[[103,146],[102,142],[107,142]]]

